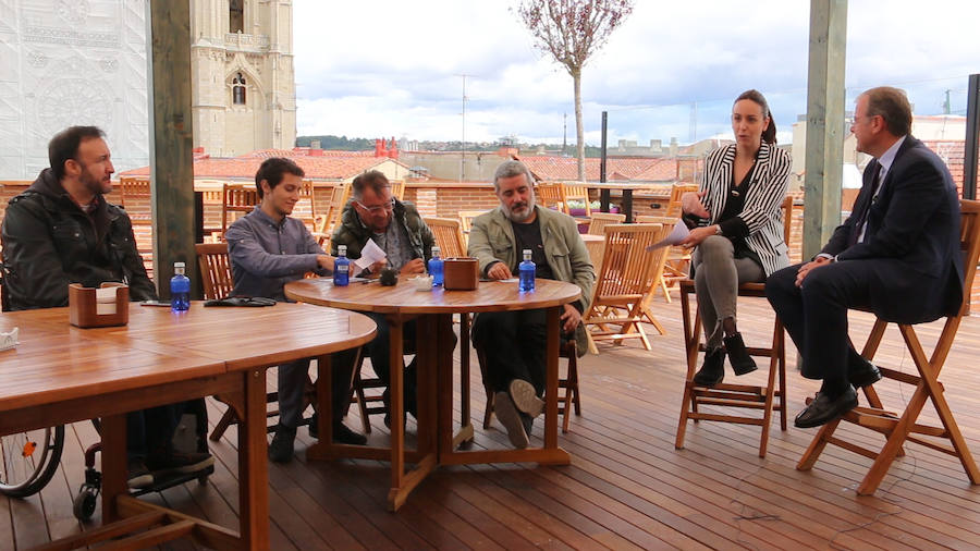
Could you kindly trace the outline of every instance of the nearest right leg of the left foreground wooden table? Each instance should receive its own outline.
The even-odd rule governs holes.
[[[242,374],[245,415],[238,426],[238,514],[242,549],[269,549],[269,464],[266,442],[266,369]]]

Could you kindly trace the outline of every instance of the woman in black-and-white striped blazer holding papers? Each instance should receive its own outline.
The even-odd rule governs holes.
[[[780,206],[792,159],[775,146],[775,122],[762,94],[738,96],[732,130],[735,144],[708,155],[700,191],[682,198],[685,221],[697,225],[681,244],[697,247],[691,271],[707,352],[694,380],[706,387],[724,378],[725,355],[735,375],[756,369],[735,322],[738,285],[765,281],[789,265]]]

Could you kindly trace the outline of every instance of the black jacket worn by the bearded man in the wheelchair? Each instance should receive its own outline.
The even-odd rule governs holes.
[[[10,199],[0,232],[10,309],[68,306],[69,283],[121,281],[130,285],[132,301],[157,298],[130,217],[101,195],[96,200],[95,211],[85,213],[51,169]]]

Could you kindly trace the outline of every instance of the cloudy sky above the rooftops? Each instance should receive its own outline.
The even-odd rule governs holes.
[[[586,142],[731,135],[732,100],[769,99],[780,143],[806,111],[806,0],[637,0],[586,65]],[[561,143],[572,77],[534,48],[514,0],[294,2],[297,133],[347,137]],[[908,90],[917,114],[942,112],[952,89],[965,114],[967,76],[980,73],[980,1],[852,0],[848,108],[871,86]],[[463,77],[466,77],[466,115]],[[696,107],[693,107],[696,106]]]

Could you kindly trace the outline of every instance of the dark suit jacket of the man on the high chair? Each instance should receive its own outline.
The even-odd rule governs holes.
[[[822,253],[837,261],[879,262],[871,282],[871,310],[902,323],[932,321],[954,315],[963,303],[963,256],[959,250],[959,199],[950,170],[921,142],[907,136],[898,148],[881,191],[872,198],[871,175],[850,217],[838,225]],[[870,203],[862,243],[847,246],[861,209]]]

